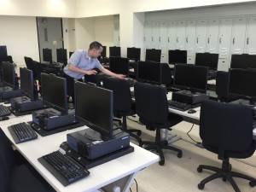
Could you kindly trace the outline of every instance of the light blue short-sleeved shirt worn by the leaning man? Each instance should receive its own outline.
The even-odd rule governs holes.
[[[68,76],[81,79],[84,76],[84,73],[74,73],[69,70],[70,64],[73,64],[75,67],[79,67],[83,70],[91,70],[93,68],[102,68],[102,64],[98,61],[97,58],[90,58],[88,51],[85,49],[79,49],[71,55],[70,59],[67,61],[67,66],[64,68],[64,73]]]

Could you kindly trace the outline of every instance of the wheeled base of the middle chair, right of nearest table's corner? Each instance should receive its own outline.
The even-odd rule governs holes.
[[[140,143],[140,147],[143,147],[143,144],[145,144],[147,146],[145,149],[155,150],[159,154],[159,156],[160,156],[159,165],[160,166],[165,165],[165,156],[164,156],[162,149],[169,149],[169,150],[177,152],[178,158],[181,158],[183,155],[183,151],[181,149],[169,146],[168,142],[166,140],[165,141],[160,140],[160,129],[156,129],[155,142],[143,141]]]

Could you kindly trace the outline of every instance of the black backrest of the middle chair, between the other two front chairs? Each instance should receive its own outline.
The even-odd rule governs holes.
[[[168,119],[166,88],[160,85],[134,84],[137,115],[151,123],[163,124]]]

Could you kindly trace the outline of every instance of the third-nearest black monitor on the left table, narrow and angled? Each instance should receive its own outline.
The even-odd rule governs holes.
[[[35,101],[38,99],[38,90],[36,89],[32,70],[20,68],[20,90],[22,94]]]

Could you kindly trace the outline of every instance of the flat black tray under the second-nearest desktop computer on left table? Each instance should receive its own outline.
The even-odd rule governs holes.
[[[39,125],[33,123],[32,121],[29,121],[27,123],[29,125],[31,125],[32,129],[34,131],[36,131],[42,137],[49,136],[49,135],[52,135],[52,134],[55,134],[58,132],[62,132],[62,131],[72,130],[72,129],[80,127],[80,126],[84,126],[84,124],[82,124],[80,122],[75,122],[73,124],[56,127],[55,129],[44,130],[43,128],[40,128]]]

